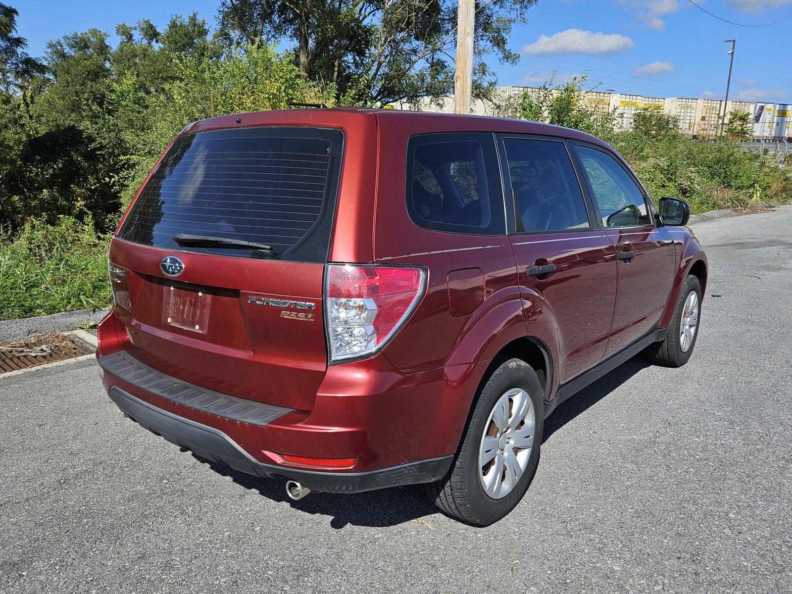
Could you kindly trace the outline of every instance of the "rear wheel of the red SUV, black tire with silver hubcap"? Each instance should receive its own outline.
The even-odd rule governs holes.
[[[511,512],[531,483],[542,442],[543,390],[528,364],[509,359],[477,397],[451,470],[428,490],[449,516],[487,526]]]

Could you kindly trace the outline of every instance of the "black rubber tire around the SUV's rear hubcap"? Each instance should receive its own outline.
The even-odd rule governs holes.
[[[533,444],[527,466],[516,485],[505,497],[492,499],[479,480],[478,449],[489,414],[498,399],[512,387],[522,388],[531,397],[535,415]],[[476,394],[474,409],[448,474],[427,485],[435,505],[448,516],[475,526],[489,526],[501,520],[520,503],[534,477],[539,464],[543,419],[543,390],[536,372],[523,360],[502,360]]]

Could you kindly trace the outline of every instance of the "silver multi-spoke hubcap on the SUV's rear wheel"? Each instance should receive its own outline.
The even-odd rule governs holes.
[[[478,478],[489,497],[506,497],[520,481],[534,445],[535,421],[533,402],[522,388],[497,399],[478,447]]]

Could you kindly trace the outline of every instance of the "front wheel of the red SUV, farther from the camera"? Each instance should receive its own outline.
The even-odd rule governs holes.
[[[661,342],[646,349],[649,359],[658,365],[682,367],[693,354],[696,338],[699,337],[699,314],[701,313],[701,284],[699,279],[688,275],[676,303],[674,317],[668,325],[668,333]]]

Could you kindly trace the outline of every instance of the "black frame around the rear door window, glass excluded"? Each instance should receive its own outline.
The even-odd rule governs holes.
[[[537,134],[519,134],[512,132],[497,133],[497,146],[498,154],[501,155],[501,177],[503,178],[504,198],[506,200],[506,219],[508,223],[509,235],[540,235],[548,233],[585,233],[587,231],[595,230],[600,227],[599,225],[599,211],[593,208],[590,204],[590,197],[588,196],[588,185],[585,183],[584,178],[581,177],[581,169],[577,166],[577,155],[574,154],[571,147],[569,147],[568,139],[561,136],[544,136]],[[517,215],[517,205],[514,200],[514,189],[512,188],[512,176],[508,169],[508,157],[506,155],[505,140],[539,140],[550,143],[560,143],[564,147],[569,163],[572,166],[573,172],[576,177],[577,186],[581,190],[583,196],[583,204],[586,209],[588,217],[588,228],[572,228],[572,229],[547,229],[538,231],[522,230],[522,221],[520,216]],[[517,227],[520,227],[518,229]]]

